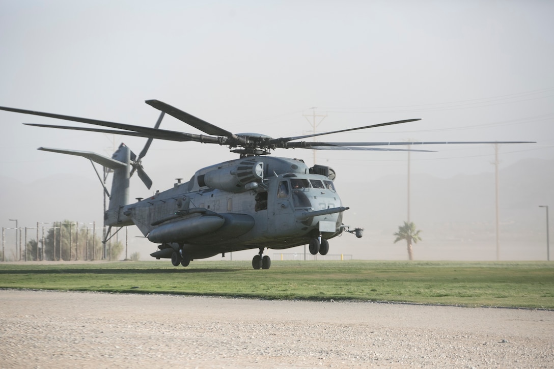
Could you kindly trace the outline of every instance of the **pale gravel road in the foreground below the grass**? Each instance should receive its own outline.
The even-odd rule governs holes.
[[[552,368],[554,311],[0,290],[1,368]]]

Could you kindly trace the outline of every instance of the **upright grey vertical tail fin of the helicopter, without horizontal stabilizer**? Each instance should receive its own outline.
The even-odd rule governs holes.
[[[110,205],[106,214],[104,214],[104,224],[114,226],[128,225],[129,219],[121,214],[121,209],[129,203],[131,150],[124,143],[121,143],[111,158],[125,165],[114,169],[114,176],[111,182]]]

